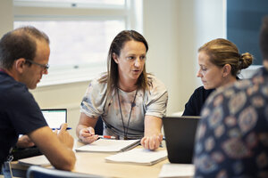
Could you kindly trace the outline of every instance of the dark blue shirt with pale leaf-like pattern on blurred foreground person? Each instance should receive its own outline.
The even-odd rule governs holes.
[[[268,71],[220,88],[202,109],[195,177],[268,177]]]

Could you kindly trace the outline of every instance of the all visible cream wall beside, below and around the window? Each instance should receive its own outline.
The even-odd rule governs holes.
[[[0,35],[13,28],[11,0],[0,2]],[[143,33],[149,44],[147,71],[168,88],[168,112],[183,110],[197,85],[197,48],[225,36],[224,0],[144,0]],[[1,34],[2,33],[2,34]],[[89,79],[89,78],[88,78]],[[40,108],[67,108],[68,124],[75,128],[87,82],[38,87],[31,91]],[[75,129],[71,130],[75,135]]]

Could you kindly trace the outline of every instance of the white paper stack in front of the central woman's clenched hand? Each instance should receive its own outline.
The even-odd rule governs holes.
[[[105,158],[107,162],[154,165],[167,158],[166,150],[133,149]]]

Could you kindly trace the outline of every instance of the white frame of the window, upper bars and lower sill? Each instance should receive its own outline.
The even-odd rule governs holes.
[[[86,5],[71,6],[43,3],[33,4],[30,1],[13,1],[13,20],[124,20],[126,29],[136,29],[142,33],[142,0],[125,0],[125,5]],[[101,71],[106,71],[105,64],[51,67],[38,86],[62,85],[88,81]]]

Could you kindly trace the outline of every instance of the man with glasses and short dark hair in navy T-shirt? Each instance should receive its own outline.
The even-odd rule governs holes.
[[[0,166],[15,145],[38,146],[55,168],[71,170],[75,164],[67,125],[53,133],[29,93],[47,74],[49,54],[49,39],[37,28],[17,28],[0,40]],[[19,134],[28,136],[18,141]]]

